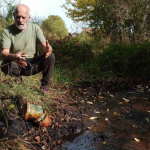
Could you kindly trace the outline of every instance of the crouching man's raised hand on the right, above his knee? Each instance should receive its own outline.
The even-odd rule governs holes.
[[[46,40],[46,42],[41,44],[40,46],[45,53],[45,58],[47,58],[52,52],[52,47],[49,45],[48,40]]]

